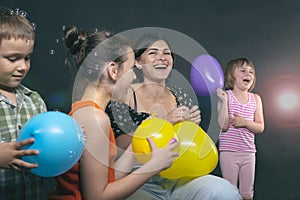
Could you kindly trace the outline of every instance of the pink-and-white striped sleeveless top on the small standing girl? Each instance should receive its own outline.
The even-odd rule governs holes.
[[[249,100],[246,104],[237,101],[232,90],[228,94],[228,115],[229,128],[221,132],[219,136],[219,151],[250,152],[255,153],[254,133],[247,128],[235,128],[232,124],[233,114],[238,114],[246,120],[254,121],[256,102],[253,93],[249,93]]]

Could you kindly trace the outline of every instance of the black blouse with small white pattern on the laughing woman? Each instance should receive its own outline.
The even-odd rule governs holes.
[[[170,88],[170,91],[175,96],[178,106],[191,108],[197,105],[182,88],[175,85]],[[110,118],[111,127],[116,138],[124,133],[133,133],[142,121],[150,116],[149,113],[137,112],[127,104],[116,101],[110,101],[105,112]]]

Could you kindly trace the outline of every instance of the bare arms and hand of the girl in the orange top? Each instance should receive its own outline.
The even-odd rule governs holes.
[[[178,156],[178,153],[172,150],[178,144],[156,149],[150,140],[153,152],[150,161],[135,172],[108,183],[110,122],[108,117],[100,112],[102,111],[94,110],[93,114],[79,120],[85,127],[87,135],[86,148],[80,165],[82,193],[86,200],[126,199],[152,176],[172,164],[173,158]],[[90,119],[87,119],[88,116],[91,116]],[[134,155],[130,151],[125,152],[118,161],[123,162],[123,165],[116,163],[116,168],[127,173],[131,170],[133,158]]]

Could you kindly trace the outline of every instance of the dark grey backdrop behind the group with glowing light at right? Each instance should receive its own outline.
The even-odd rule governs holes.
[[[49,110],[67,112],[72,74],[64,67],[63,27],[111,29],[163,27],[196,40],[221,66],[233,58],[248,57],[256,66],[266,128],[256,137],[255,200],[299,199],[299,103],[278,103],[289,92],[300,100],[300,2],[295,1],[37,1],[0,0],[20,8],[37,26],[32,68],[25,85],[40,92]],[[188,76],[190,65],[175,69]],[[210,120],[210,98],[198,96],[202,126]],[[290,100],[290,101],[289,101]],[[218,168],[214,172],[219,174]]]

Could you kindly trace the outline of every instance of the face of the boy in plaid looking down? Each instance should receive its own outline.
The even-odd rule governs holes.
[[[11,38],[0,44],[0,86],[13,89],[18,87],[30,69],[30,56],[34,41]]]

